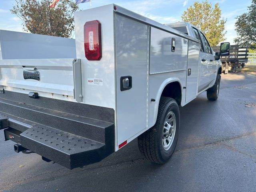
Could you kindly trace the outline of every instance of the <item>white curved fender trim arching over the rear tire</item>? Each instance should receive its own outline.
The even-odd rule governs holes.
[[[180,81],[179,78],[177,77],[172,77],[172,78],[168,78],[166,80],[164,80],[164,82],[162,82],[162,84],[160,85],[160,88],[158,89],[158,93],[156,95],[156,101],[155,101],[155,106],[154,106],[154,120],[153,120],[153,125],[156,123],[156,118],[157,118],[157,114],[158,114],[158,106],[159,106],[159,102],[160,102],[160,98],[162,95],[162,92],[164,90],[164,88],[172,83],[172,82],[178,82],[180,84],[180,90],[181,90],[181,106],[183,103],[183,93],[182,93],[182,83]],[[152,125],[152,126],[153,126]]]

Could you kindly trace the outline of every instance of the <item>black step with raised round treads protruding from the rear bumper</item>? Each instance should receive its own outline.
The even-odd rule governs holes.
[[[23,147],[70,169],[104,158],[105,144],[48,126],[33,126],[20,139]]]

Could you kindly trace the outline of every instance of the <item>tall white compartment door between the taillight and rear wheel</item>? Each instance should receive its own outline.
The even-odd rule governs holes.
[[[120,145],[146,128],[148,26],[119,14],[115,19],[117,145]],[[122,84],[132,87],[121,90]]]

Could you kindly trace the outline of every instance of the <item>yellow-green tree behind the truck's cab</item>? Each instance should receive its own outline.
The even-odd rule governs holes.
[[[211,46],[217,46],[226,39],[224,38],[226,19],[221,18],[218,3],[212,7],[208,0],[202,1],[202,3],[196,1],[183,12],[181,18],[199,28]]]

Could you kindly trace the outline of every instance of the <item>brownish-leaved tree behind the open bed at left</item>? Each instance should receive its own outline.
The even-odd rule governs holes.
[[[60,0],[55,8],[50,8],[51,1],[15,0],[10,11],[22,20],[27,32],[68,38],[74,30],[74,12],[78,5],[72,0]]]

